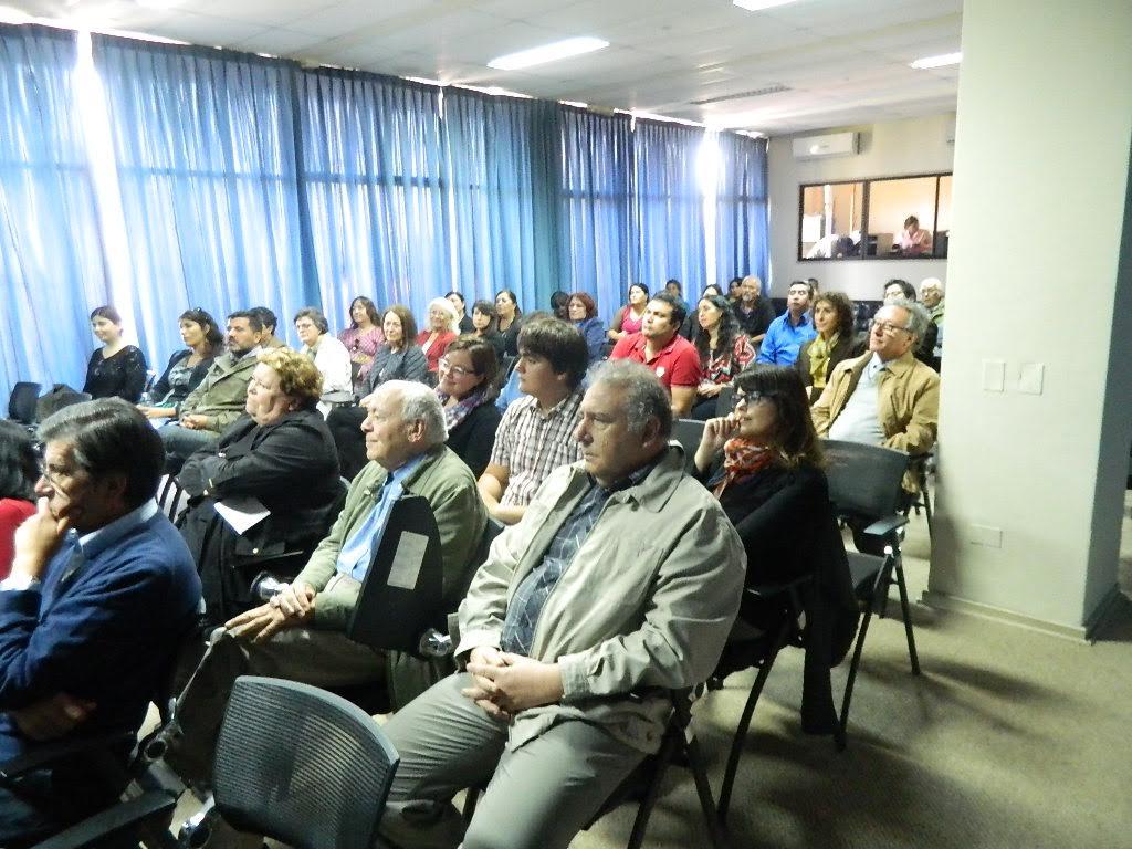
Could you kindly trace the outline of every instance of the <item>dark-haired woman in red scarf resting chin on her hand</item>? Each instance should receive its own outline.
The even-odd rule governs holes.
[[[697,477],[719,498],[747,551],[747,585],[813,571],[831,521],[822,448],[797,370],[752,365],[735,378],[729,414],[709,419]]]

